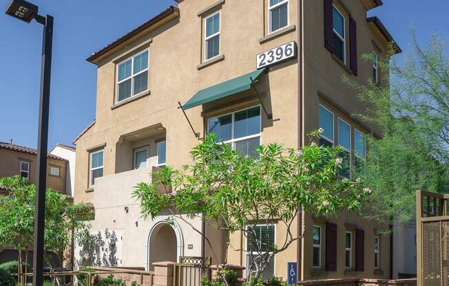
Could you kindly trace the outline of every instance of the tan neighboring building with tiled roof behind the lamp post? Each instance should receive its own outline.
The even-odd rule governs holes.
[[[74,164],[75,150],[65,146],[68,152],[57,151],[62,144],[58,144],[48,153],[47,157],[47,187],[72,196],[70,190],[70,164]],[[70,151],[69,151],[70,150]],[[0,142],[0,177],[19,175],[25,177],[30,184],[36,184],[37,150],[26,146]],[[74,168],[73,168],[74,169]],[[72,175],[72,177],[74,174]],[[32,261],[32,251],[30,261]],[[0,264],[8,261],[17,261],[17,251],[4,248],[0,245]],[[23,254],[25,256],[25,254]],[[59,265],[59,259],[53,257],[54,265]]]

